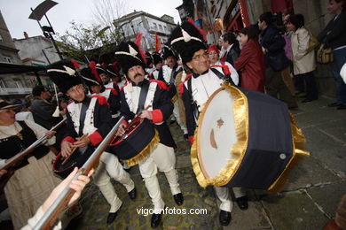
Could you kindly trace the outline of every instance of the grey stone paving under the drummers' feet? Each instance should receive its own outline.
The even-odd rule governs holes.
[[[321,97],[318,101],[299,104],[293,111],[295,120],[307,139],[308,157],[289,177],[289,182],[278,195],[260,190],[248,190],[249,208],[240,211],[234,203],[232,222],[227,227],[218,223],[218,203],[213,188],[201,188],[191,167],[188,142],[177,124],[171,131],[177,142],[177,173],[185,196],[183,206],[177,206],[170,194],[164,173],[158,173],[163,200],[169,208],[206,209],[207,214],[163,216],[157,229],[321,229],[334,217],[337,205],[346,192],[346,111],[326,107],[332,101]],[[125,188],[114,182],[122,208],[114,223],[106,226],[109,205],[98,188],[90,185],[83,192],[83,215],[68,229],[150,229],[151,215],[138,214],[143,207],[151,208],[144,182],[135,166],[130,171],[138,189],[138,198],[131,201]],[[138,211],[137,211],[138,209]]]

